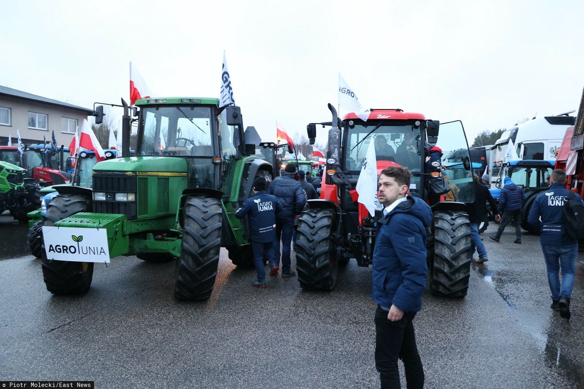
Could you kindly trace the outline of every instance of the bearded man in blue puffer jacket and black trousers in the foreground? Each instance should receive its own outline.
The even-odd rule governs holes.
[[[421,199],[406,197],[411,177],[403,167],[388,167],[379,176],[378,197],[386,208],[377,224],[371,297],[377,303],[375,364],[382,388],[399,388],[398,358],[408,388],[424,385],[412,321],[422,309],[432,211]]]

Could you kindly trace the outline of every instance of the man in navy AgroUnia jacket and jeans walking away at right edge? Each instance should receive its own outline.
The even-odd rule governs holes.
[[[527,222],[541,232],[540,244],[547,267],[550,284],[551,309],[558,311],[561,317],[570,318],[570,299],[576,272],[578,241],[564,233],[564,202],[570,191],[565,187],[566,172],[562,169],[552,171],[550,188],[538,194],[531,205]],[[578,201],[582,201],[574,194]],[[541,218],[541,221],[540,221]],[[559,268],[562,268],[562,283],[559,283]]]

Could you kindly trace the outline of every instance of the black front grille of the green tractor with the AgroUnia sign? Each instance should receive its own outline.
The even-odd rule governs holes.
[[[98,213],[121,213],[128,220],[137,218],[136,202],[116,201],[116,193],[136,193],[137,177],[112,173],[93,174],[93,192],[105,192],[106,201],[93,201],[93,211]],[[138,194],[136,195],[138,197]]]

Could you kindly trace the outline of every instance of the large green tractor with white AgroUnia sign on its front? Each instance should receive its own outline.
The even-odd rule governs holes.
[[[93,167],[93,191],[58,187],[60,195],[48,206],[47,289],[84,293],[93,263],[136,255],[148,262],[176,260],[175,298],[206,300],[221,247],[234,264],[253,264],[247,226],[234,215],[253,180],[270,178],[272,166],[253,155],[255,145],[246,139],[257,134],[244,132],[239,107],[201,97],[137,100],[137,146],[129,157],[131,119],[122,103],[123,157]],[[103,107],[95,115],[101,122]]]

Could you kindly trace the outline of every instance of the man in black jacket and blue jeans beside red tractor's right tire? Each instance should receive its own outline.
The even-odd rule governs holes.
[[[478,264],[488,261],[486,254],[485,245],[482,244],[481,237],[478,234],[478,225],[483,220],[485,220],[485,205],[488,201],[491,204],[491,209],[493,212],[497,212],[497,205],[495,204],[495,199],[493,199],[491,192],[485,187],[478,178],[477,174],[472,174],[473,187],[475,192],[474,203],[467,204],[468,220],[471,222],[471,255],[474,254],[475,250],[478,252]],[[470,185],[465,185],[463,190],[468,190]],[[463,197],[464,198],[464,197]],[[495,220],[499,221],[501,216],[499,213],[495,214]]]

